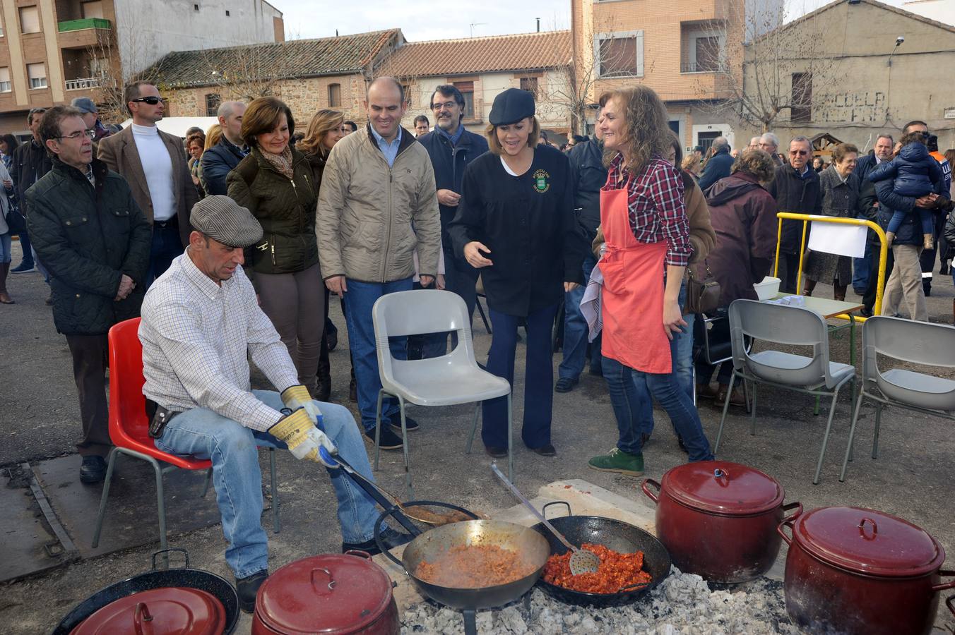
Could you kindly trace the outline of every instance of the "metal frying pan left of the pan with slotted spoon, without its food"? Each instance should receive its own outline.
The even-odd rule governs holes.
[[[432,503],[434,504],[434,503]],[[390,558],[393,563],[401,566],[414,585],[426,597],[439,604],[460,609],[464,612],[464,632],[466,635],[477,635],[475,611],[479,608],[492,608],[517,600],[538,581],[543,572],[543,565],[547,563],[550,547],[544,537],[530,527],[502,521],[464,521],[445,524],[424,533],[415,530],[416,536],[411,543],[405,546],[401,560],[381,543],[381,524],[391,516],[394,508],[386,511],[374,526],[374,538],[381,552]],[[504,549],[510,549],[533,563],[534,571],[528,576],[508,584],[485,586],[482,588],[452,588],[427,583],[414,575],[421,561],[435,560],[435,558],[456,546],[467,544],[495,544]]]

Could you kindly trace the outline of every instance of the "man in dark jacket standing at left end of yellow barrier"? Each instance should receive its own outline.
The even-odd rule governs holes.
[[[819,175],[809,167],[813,145],[803,135],[794,136],[789,143],[789,165],[776,168],[769,193],[776,201],[776,211],[795,214],[822,213],[822,190]],[[808,240],[808,236],[807,236]],[[782,280],[779,290],[796,294],[796,272],[799,268],[799,251],[802,245],[802,221],[783,220],[779,242],[779,271]]]

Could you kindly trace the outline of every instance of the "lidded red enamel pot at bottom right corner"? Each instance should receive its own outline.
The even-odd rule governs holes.
[[[789,526],[790,538],[783,528]],[[862,507],[822,507],[778,527],[789,543],[786,610],[813,632],[923,635],[932,629],[945,551],[921,527]],[[955,613],[955,598],[948,607]]]

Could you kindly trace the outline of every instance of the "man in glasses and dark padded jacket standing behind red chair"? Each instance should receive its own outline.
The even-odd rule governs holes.
[[[82,113],[56,106],[39,127],[53,169],[25,202],[33,248],[53,277],[53,322],[73,356],[83,439],[79,480],[102,481],[110,450],[107,333],[139,315],[149,263],[149,222],[129,185],[93,158],[95,131]]]

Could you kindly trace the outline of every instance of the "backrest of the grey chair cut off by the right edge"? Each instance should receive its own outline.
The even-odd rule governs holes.
[[[887,381],[879,370],[879,354],[926,366],[955,368],[955,326],[887,316],[868,318],[862,325],[864,383],[875,383],[890,399],[923,408],[948,409],[946,406],[955,402],[955,391],[933,393],[931,399],[924,400],[920,399],[925,396],[923,393]]]

